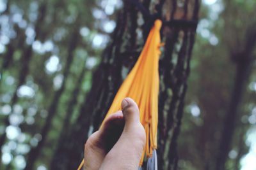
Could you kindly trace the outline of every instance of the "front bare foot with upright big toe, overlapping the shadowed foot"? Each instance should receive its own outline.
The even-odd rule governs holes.
[[[100,169],[138,169],[146,135],[140,123],[137,104],[131,98],[122,102],[124,131],[108,152]]]

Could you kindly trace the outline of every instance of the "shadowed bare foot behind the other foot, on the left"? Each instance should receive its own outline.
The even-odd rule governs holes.
[[[118,111],[110,115],[102,128],[88,138],[84,146],[84,169],[99,169],[102,161],[115,145],[124,129],[124,115]]]

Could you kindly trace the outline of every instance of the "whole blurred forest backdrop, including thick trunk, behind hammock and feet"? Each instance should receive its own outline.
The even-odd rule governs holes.
[[[255,170],[255,8],[0,0],[0,169],[76,169],[160,17],[159,169]]]

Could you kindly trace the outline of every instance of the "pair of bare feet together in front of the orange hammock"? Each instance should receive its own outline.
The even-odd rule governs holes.
[[[145,141],[138,106],[131,98],[125,98],[122,111],[109,116],[86,141],[84,169],[137,170]]]

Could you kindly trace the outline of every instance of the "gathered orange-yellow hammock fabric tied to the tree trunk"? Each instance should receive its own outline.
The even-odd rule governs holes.
[[[159,94],[159,56],[161,54],[160,29],[162,22],[156,20],[141,55],[122,83],[106,115],[121,109],[122,100],[131,97],[139,106],[140,122],[145,128],[147,140],[143,150],[140,165],[145,154],[152,157],[153,150],[157,148],[157,123],[158,123],[158,94]],[[105,117],[105,119],[106,119]],[[104,121],[103,121],[104,122]],[[83,167],[84,160],[78,169]]]

